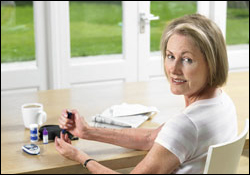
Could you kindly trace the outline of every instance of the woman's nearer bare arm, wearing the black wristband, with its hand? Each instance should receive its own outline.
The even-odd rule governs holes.
[[[64,157],[77,161],[82,165],[91,157],[71,145],[67,135],[61,133],[61,139],[55,139],[56,150]],[[145,158],[131,171],[131,174],[165,174],[172,173],[180,165],[179,159],[166,148],[154,143],[152,149]],[[90,161],[87,169],[93,174],[115,174],[117,172],[101,165],[96,161]]]

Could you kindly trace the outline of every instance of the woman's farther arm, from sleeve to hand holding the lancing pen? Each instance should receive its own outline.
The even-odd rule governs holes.
[[[71,134],[82,139],[100,141],[122,146],[130,149],[149,150],[161,130],[160,126],[156,129],[126,128],[109,129],[95,128],[88,125],[78,111],[72,110],[74,114],[71,119],[67,118],[66,110],[59,118],[60,127],[67,129]]]

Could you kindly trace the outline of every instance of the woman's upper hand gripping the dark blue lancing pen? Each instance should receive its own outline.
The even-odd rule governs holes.
[[[61,129],[66,129],[68,132],[73,134],[76,137],[85,139],[87,138],[87,131],[89,130],[90,126],[84,120],[83,117],[80,116],[77,110],[73,109],[70,110],[72,112],[71,119],[67,118],[66,109],[63,110],[62,115],[59,118],[59,126]]]

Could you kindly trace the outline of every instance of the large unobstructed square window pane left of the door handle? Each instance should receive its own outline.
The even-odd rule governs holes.
[[[121,1],[70,1],[71,57],[122,52]]]

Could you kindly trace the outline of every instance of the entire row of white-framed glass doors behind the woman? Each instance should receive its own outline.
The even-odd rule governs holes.
[[[228,5],[228,13],[230,9],[240,9],[237,15],[228,14],[230,34],[225,32],[225,1],[196,2],[1,1],[1,62],[10,62],[1,64],[1,91],[69,88],[164,77],[159,52],[164,27],[173,18],[197,11],[221,24],[228,36],[238,37],[244,33],[239,38],[245,46],[229,49],[228,55],[231,70],[248,69],[248,10]],[[146,23],[144,33],[140,32],[142,13],[160,17],[158,21]],[[242,20],[242,25],[230,26],[237,20]],[[231,44],[242,43],[230,40],[227,37]]]

